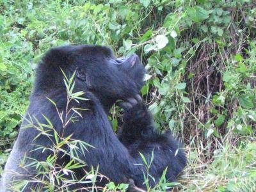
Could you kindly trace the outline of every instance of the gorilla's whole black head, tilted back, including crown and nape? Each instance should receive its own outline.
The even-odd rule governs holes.
[[[56,47],[47,52],[42,61],[36,83],[40,90],[44,87],[49,93],[49,90],[64,85],[60,68],[68,76],[76,70],[77,90],[92,92],[107,111],[116,100],[135,97],[140,92],[145,74],[136,54],[116,58],[111,49],[97,45]],[[52,74],[52,71],[56,73]],[[38,93],[36,88],[35,92]]]

